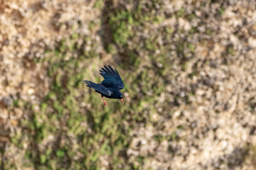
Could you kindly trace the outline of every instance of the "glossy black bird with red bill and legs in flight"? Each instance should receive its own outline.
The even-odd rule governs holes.
[[[124,82],[120,77],[116,69],[112,69],[110,65],[102,67],[100,70],[100,75],[104,78],[101,84],[96,84],[92,81],[84,80],[86,86],[94,89],[97,93],[101,94],[104,106],[107,105],[104,97],[106,98],[117,98],[124,104],[123,96],[120,92],[124,89]]]

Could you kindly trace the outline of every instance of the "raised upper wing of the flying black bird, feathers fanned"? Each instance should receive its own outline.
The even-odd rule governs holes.
[[[124,89],[124,83],[119,75],[119,73],[117,72],[116,69],[112,69],[112,67],[110,67],[110,65],[108,65],[108,67],[104,66],[105,68],[102,68],[102,70],[100,70],[100,75],[102,75],[102,77],[104,77],[104,80],[102,81],[102,84],[104,86],[110,86],[110,84],[114,84],[116,86],[118,86],[119,89]]]

